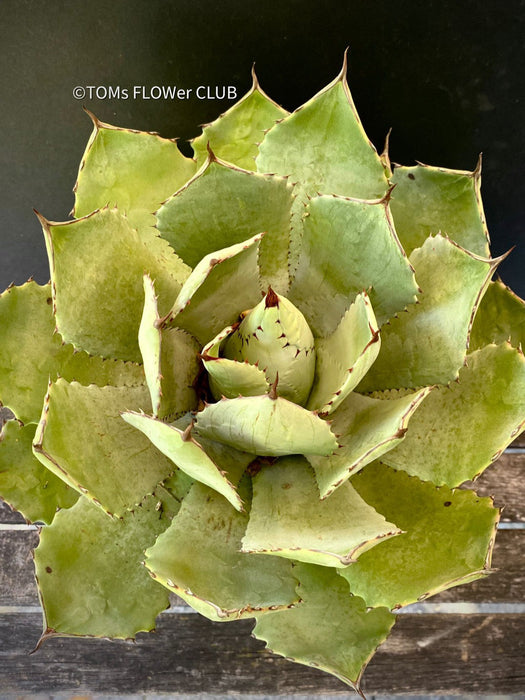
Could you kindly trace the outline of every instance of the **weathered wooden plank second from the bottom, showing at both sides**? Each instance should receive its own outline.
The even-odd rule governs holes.
[[[32,559],[37,543],[36,532],[0,531],[0,605],[38,605]],[[492,566],[497,571],[489,577],[451,588],[432,602],[525,602],[525,530],[498,532]]]

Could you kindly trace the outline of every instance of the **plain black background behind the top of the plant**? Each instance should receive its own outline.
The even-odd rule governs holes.
[[[251,85],[295,109],[339,72],[379,150],[473,169],[503,279],[525,296],[524,0],[112,0],[0,5],[0,288],[48,279],[32,213],[66,220],[91,132],[103,121],[188,139],[231,103],[75,100],[75,86]]]

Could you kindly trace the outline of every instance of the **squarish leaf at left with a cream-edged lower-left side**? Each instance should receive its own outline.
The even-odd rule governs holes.
[[[173,463],[120,416],[148,403],[145,386],[83,387],[59,379],[46,397],[35,454],[74,489],[120,516],[174,471]]]

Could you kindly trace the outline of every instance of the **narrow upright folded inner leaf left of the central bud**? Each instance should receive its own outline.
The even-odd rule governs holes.
[[[199,374],[199,344],[180,328],[162,328],[153,282],[144,276],[144,311],[139,347],[153,413],[159,418],[181,415],[197,407],[194,388]]]

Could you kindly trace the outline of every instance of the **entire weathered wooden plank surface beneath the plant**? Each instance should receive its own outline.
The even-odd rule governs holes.
[[[525,449],[515,444],[476,483],[505,504],[493,565],[498,571],[399,615],[364,676],[378,694],[525,693]],[[253,622],[212,623],[180,604],[134,644],[51,639],[29,654],[41,616],[32,576],[34,529],[0,505],[0,698],[35,694],[349,697],[315,669],[275,657],[253,639]]]

